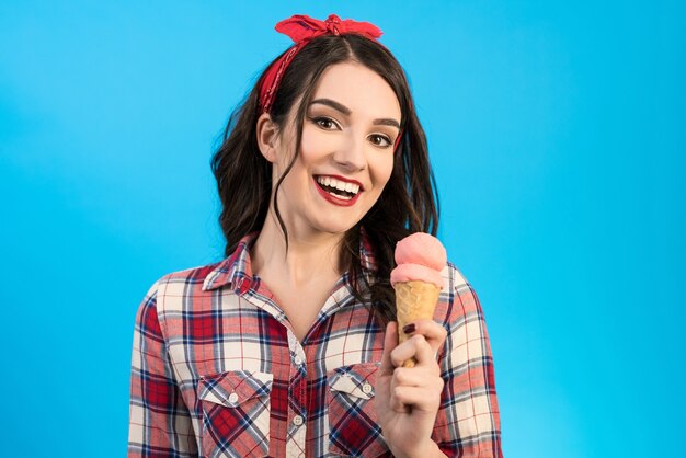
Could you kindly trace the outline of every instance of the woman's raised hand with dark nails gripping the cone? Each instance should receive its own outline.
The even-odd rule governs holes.
[[[418,320],[412,339],[398,345],[398,323],[386,327],[384,356],[376,382],[376,409],[384,438],[397,457],[445,456],[431,438],[441,404],[443,379],[436,352],[446,330]],[[416,365],[402,367],[411,357]]]

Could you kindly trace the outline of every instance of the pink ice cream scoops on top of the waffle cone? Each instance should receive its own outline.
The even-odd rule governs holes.
[[[396,245],[396,264],[390,273],[390,283],[396,286],[403,282],[433,283],[443,288],[441,271],[447,255],[443,244],[433,236],[416,232],[405,237]]]

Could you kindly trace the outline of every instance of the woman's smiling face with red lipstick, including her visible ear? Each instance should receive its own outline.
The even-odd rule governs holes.
[[[274,183],[295,151],[294,115],[275,144]],[[400,104],[379,75],[357,62],[325,69],[306,108],[300,154],[278,191],[288,231],[343,233],[356,225],[391,175],[399,125]]]

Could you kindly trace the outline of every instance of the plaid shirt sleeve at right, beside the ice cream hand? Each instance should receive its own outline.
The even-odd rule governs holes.
[[[434,437],[449,457],[502,458],[493,357],[483,311],[468,283],[450,293],[448,335],[439,358],[445,388]]]

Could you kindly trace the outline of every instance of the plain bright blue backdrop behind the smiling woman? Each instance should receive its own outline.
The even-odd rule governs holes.
[[[686,456],[683,4],[2,2],[2,455],[125,455],[138,304],[221,257],[213,145],[336,12],[410,76],[505,456]]]

